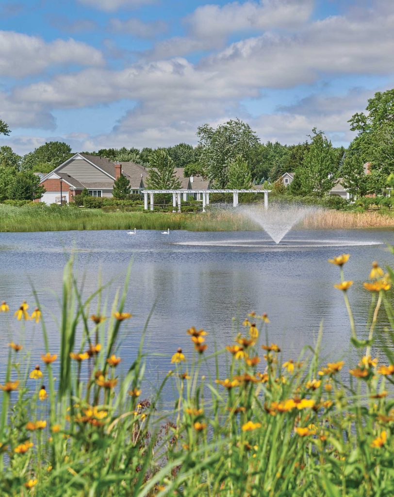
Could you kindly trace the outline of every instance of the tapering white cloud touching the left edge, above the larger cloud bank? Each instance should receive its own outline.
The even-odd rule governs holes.
[[[17,63],[16,63],[17,61]],[[101,66],[101,52],[85,43],[0,31],[0,76],[23,78],[53,66]]]

